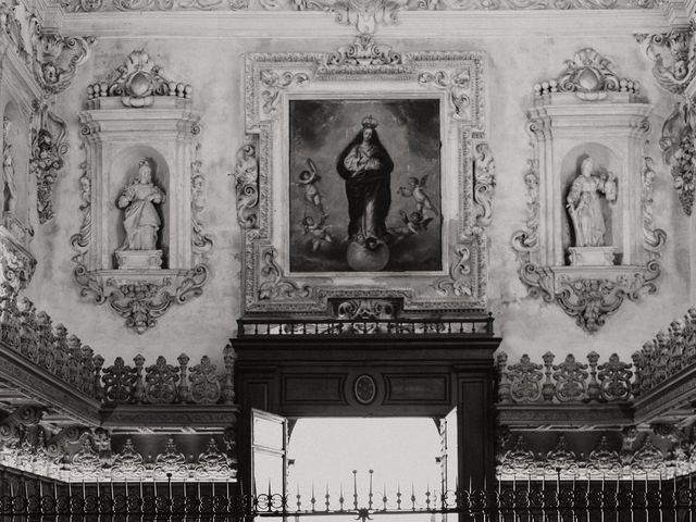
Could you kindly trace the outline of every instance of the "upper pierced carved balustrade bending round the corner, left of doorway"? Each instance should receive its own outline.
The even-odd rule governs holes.
[[[53,325],[48,313],[37,312],[28,298],[17,299],[12,291],[0,291],[0,340],[104,407],[234,403],[232,346],[224,349],[221,372],[208,356],[190,365],[185,353],[178,356],[176,364],[169,364],[162,356],[153,364],[146,364],[140,355],[134,358],[133,365],[121,357],[107,364],[65,326]]]

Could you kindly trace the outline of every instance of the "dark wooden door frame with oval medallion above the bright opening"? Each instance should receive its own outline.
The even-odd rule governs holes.
[[[495,366],[500,338],[259,336],[232,339],[241,405],[239,476],[250,494],[249,411],[306,417],[445,417],[458,411],[459,483],[495,477]],[[361,380],[360,394],[356,383]],[[374,398],[370,391],[374,385]],[[360,397],[359,397],[360,395]]]

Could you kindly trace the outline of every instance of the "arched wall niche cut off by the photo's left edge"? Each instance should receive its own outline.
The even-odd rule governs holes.
[[[5,153],[12,158],[12,169],[14,171],[14,185],[16,188],[15,206],[13,217],[20,224],[28,226],[29,215],[29,124],[22,114],[18,107],[10,101],[5,103],[2,111],[3,133],[2,133],[2,160],[4,163]],[[7,133],[4,122],[8,122]],[[7,148],[9,147],[9,148]],[[4,164],[3,164],[4,169]],[[2,209],[5,210],[5,199],[8,198],[7,184],[2,186]],[[11,217],[10,217],[11,219]],[[3,223],[5,223],[3,216]],[[5,224],[8,226],[8,224]],[[10,227],[10,226],[8,226]]]

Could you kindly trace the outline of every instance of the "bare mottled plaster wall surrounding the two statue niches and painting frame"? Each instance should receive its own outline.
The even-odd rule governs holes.
[[[538,360],[548,350],[559,357],[568,352],[584,356],[595,350],[602,359],[617,351],[627,359],[658,330],[686,311],[694,286],[689,274],[689,248],[693,251],[689,226],[693,231],[693,225],[679,209],[669,170],[657,146],[662,121],[671,112],[673,101],[657,86],[650,73],[651,64],[633,37],[462,36],[396,40],[377,36],[377,39],[398,51],[480,50],[488,57],[488,141],[497,166],[494,219],[488,228],[489,308],[496,320],[496,334],[502,337],[501,348],[511,359],[529,352]],[[182,351],[192,359],[209,353],[220,361],[222,347],[235,335],[235,320],[240,314],[241,238],[236,223],[234,181],[228,173],[234,169],[235,152],[244,139],[244,54],[331,51],[350,40],[344,37],[211,38],[210,35],[186,39],[148,35],[101,37],[94,57],[79,69],[73,85],[55,107],[58,114],[69,122],[71,150],[63,177],[55,185],[57,215],[48,224],[36,226],[32,243],[38,269],[27,295],[36,300],[37,307],[47,310],[54,323],[64,323],[109,361],[117,353],[132,359],[140,352],[148,361],[164,355],[173,362]],[[526,219],[523,174],[532,148],[524,127],[525,110],[532,103],[532,86],[556,77],[563,69],[563,61],[583,47],[593,47],[611,59],[620,75],[637,79],[652,105],[648,151],[656,160],[658,172],[655,222],[669,235],[661,259],[659,293],[641,302],[624,302],[601,331],[592,336],[557,306],[526,297],[526,288],[517,275],[515,254],[510,248],[512,233],[522,228]],[[173,306],[157,327],[138,335],[126,328],[124,320],[108,306],[96,306],[89,298],[79,296],[72,281],[70,237],[80,224],[78,178],[85,157],[79,148],[77,112],[84,109],[86,87],[113,71],[132,50],[141,48],[164,66],[167,77],[194,86],[194,108],[201,113],[201,159],[208,183],[202,217],[215,236],[215,251],[211,260],[213,279],[203,295],[185,306]]]

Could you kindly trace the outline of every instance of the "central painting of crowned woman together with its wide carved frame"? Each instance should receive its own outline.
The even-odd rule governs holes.
[[[485,308],[496,175],[484,65],[477,52],[399,53],[365,34],[334,52],[247,55],[247,138],[231,173],[246,312],[326,312],[330,298],[346,295],[403,298],[405,311]],[[364,90],[347,96],[344,80]],[[298,111],[319,119],[298,126]],[[411,112],[430,114],[443,142],[435,158],[400,138]],[[335,150],[315,145],[336,133],[343,137],[327,141],[339,142]],[[385,179],[393,170],[390,185],[364,182],[373,203],[358,195],[353,178]],[[427,238],[436,259],[420,273],[399,252]]]

